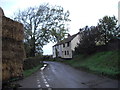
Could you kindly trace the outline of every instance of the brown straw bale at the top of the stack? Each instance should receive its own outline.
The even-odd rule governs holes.
[[[3,17],[2,37],[8,37],[17,41],[22,41],[24,39],[23,25],[7,17]]]

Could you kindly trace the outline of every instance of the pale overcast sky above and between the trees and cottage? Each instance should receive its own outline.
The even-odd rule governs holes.
[[[7,17],[12,17],[17,10],[24,10],[30,6],[38,6],[43,3],[60,5],[70,11],[69,33],[75,34],[86,25],[97,25],[100,18],[105,15],[118,18],[118,2],[120,0],[0,0]],[[44,46],[44,54],[52,54],[53,43]]]

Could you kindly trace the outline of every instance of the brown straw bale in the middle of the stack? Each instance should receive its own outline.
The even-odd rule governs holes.
[[[3,44],[2,45],[3,60],[4,58],[9,58],[9,59],[19,58],[20,60],[23,60],[23,58],[25,58],[23,42],[18,42],[12,39],[3,38],[2,44]]]

